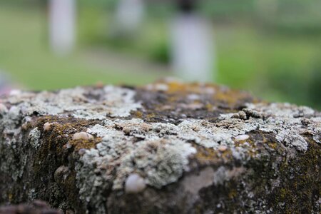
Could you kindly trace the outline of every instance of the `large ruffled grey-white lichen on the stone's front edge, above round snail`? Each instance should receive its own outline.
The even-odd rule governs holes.
[[[97,208],[103,187],[122,190],[133,173],[143,176],[144,183],[155,188],[177,181],[188,170],[188,157],[196,152],[190,143],[175,136],[175,125],[170,123],[150,124],[139,119],[104,123],[105,126],[96,124],[88,128],[89,133],[100,136],[102,141],[96,148],[86,150],[76,164],[80,197]],[[173,136],[163,138],[166,133]],[[135,142],[138,137],[141,141]]]

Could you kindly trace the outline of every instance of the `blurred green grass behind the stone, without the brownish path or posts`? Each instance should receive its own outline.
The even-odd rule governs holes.
[[[148,83],[160,73],[116,71],[83,60],[87,47],[103,47],[147,60],[168,61],[167,25],[148,19],[141,34],[130,41],[111,40],[106,9],[81,7],[78,49],[59,58],[46,49],[44,9],[0,7],[0,69],[34,89],[56,89],[104,83]],[[218,71],[216,82],[244,88],[270,101],[321,107],[321,36],[289,34],[261,27],[256,21],[215,21]],[[313,87],[311,87],[313,86]],[[310,97],[311,95],[311,97]]]

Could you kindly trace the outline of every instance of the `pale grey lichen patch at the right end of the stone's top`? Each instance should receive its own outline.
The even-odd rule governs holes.
[[[308,143],[302,135],[310,131],[316,142],[320,138],[320,117],[317,114],[312,108],[288,103],[248,103],[248,108],[244,108],[243,111],[222,115],[223,121],[219,124],[228,126],[229,131],[237,128],[246,132],[259,130],[264,133],[274,133],[279,143],[305,152]],[[235,122],[237,120],[242,122]],[[309,124],[308,127],[306,123]],[[238,128],[239,124],[243,128]]]

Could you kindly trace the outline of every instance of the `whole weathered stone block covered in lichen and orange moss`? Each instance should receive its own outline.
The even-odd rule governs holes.
[[[0,103],[0,203],[74,213],[320,213],[321,113],[210,84]],[[71,211],[70,211],[71,210]]]

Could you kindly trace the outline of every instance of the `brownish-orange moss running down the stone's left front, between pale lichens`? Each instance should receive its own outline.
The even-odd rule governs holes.
[[[48,131],[44,131],[44,123],[51,123]],[[81,207],[76,188],[76,172],[74,170],[74,151],[80,148],[93,148],[101,141],[101,138],[94,138],[90,141],[72,140],[73,133],[85,131],[86,128],[100,121],[86,121],[76,118],[59,118],[57,116],[44,116],[36,121],[36,126],[41,131],[41,146],[34,157],[34,188],[37,198],[49,201],[51,205],[58,206],[68,201],[72,208]],[[67,143],[71,148],[66,147]],[[73,153],[71,155],[71,153]],[[63,183],[51,185],[51,195],[46,193],[49,183],[56,183],[54,172],[61,166],[66,165],[70,172]]]

